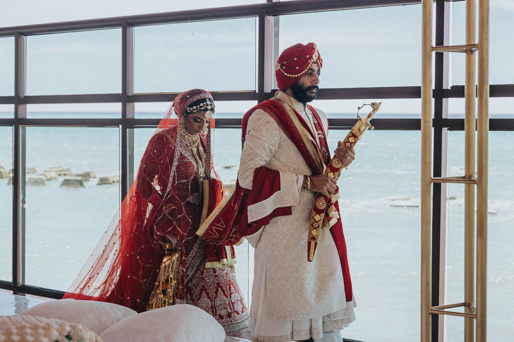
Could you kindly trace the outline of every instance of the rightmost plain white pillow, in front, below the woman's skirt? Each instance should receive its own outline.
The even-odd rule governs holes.
[[[181,304],[125,318],[100,338],[104,342],[223,342],[225,330],[204,310]]]

